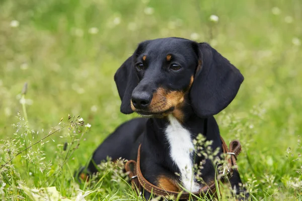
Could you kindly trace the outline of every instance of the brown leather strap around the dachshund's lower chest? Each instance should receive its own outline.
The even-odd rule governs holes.
[[[230,154],[231,157],[227,158],[228,159],[228,172],[232,172],[232,168],[235,166],[237,168],[236,160],[237,156],[241,152],[241,144],[238,140],[233,140],[230,143],[230,150],[228,149],[228,146],[226,146],[224,140],[220,136],[221,142],[222,142],[222,151],[225,154]],[[174,195],[175,197],[178,196],[180,192],[177,191],[171,191],[171,190],[166,190],[163,188],[160,188],[156,185],[153,185],[152,183],[148,182],[144,176],[142,175],[140,171],[140,147],[141,144],[138,146],[138,151],[137,151],[137,162],[134,160],[129,160],[125,164],[125,169],[129,173],[129,177],[132,183],[132,188],[137,191],[139,194],[142,191],[142,188],[149,193],[153,193],[157,196],[167,196],[167,195]],[[132,165],[132,168],[130,167]],[[216,193],[216,186],[215,182],[213,182],[210,185],[204,186],[199,189],[198,192],[182,192],[182,194],[179,196],[179,199],[188,199],[189,197],[192,197],[192,194],[195,194],[197,196],[205,195],[207,193],[210,193],[211,195],[215,195]]]

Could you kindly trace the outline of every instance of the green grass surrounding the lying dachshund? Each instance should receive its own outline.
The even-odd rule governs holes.
[[[219,21],[210,22],[210,15]],[[19,26],[14,27],[14,20]],[[216,119],[225,141],[236,138],[243,145],[239,171],[255,200],[301,200],[299,0],[3,0],[0,22],[0,139],[8,140],[0,141],[0,164],[47,135],[62,117],[64,123],[55,129],[68,124],[68,114],[71,119],[81,115],[85,125],[92,125],[78,125],[81,133],[75,136],[73,123],[71,130],[59,130],[43,146],[26,151],[32,155],[23,152],[14,158],[0,170],[0,199],[29,200],[26,190],[17,188],[23,183],[29,188],[55,186],[67,197],[80,188],[97,190],[89,200],[137,200],[111,163],[94,185],[79,185],[72,174],[110,132],[136,117],[119,111],[113,80],[117,68],[140,41],[176,36],[209,42],[245,76],[234,102]],[[25,115],[20,104],[25,82],[28,126],[15,118],[19,111]],[[18,122],[14,135],[11,125]]]

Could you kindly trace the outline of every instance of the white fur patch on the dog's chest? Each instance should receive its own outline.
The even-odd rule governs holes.
[[[180,170],[182,185],[191,192],[199,190],[198,183],[195,182],[193,173],[193,159],[191,153],[194,145],[190,137],[190,132],[184,128],[177,119],[169,115],[170,124],[165,132],[170,145],[170,157]]]

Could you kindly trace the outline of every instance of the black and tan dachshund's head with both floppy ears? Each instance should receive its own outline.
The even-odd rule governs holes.
[[[244,77],[207,43],[163,38],[140,43],[114,80],[124,114],[162,117],[189,102],[209,117],[232,102]]]

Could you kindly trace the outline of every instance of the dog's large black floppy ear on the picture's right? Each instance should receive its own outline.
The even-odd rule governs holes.
[[[244,80],[240,71],[230,61],[207,43],[194,43],[199,58],[190,99],[199,117],[216,115],[235,98]]]

